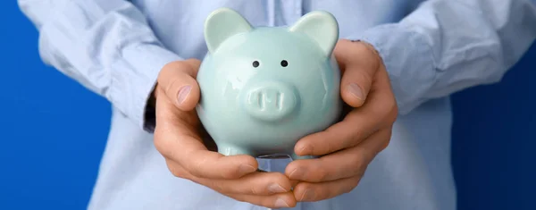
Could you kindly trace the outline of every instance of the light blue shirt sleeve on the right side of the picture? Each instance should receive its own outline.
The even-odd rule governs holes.
[[[378,50],[405,114],[501,80],[536,38],[536,8],[528,0],[429,0],[402,21],[353,38]]]

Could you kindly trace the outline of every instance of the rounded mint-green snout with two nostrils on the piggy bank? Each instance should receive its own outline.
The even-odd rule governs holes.
[[[283,82],[258,82],[244,90],[244,108],[250,116],[258,120],[281,120],[294,113],[299,104],[296,88]]]

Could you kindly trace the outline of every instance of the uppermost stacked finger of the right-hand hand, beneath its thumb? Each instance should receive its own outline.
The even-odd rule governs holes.
[[[387,78],[384,71],[377,77]],[[386,81],[387,80],[387,81]],[[390,91],[389,80],[374,82],[374,94],[369,95],[364,106],[352,110],[330,128],[297,141],[297,155],[327,155],[343,148],[354,147],[373,132],[390,126],[397,117],[397,105]],[[376,87],[377,86],[377,87]]]

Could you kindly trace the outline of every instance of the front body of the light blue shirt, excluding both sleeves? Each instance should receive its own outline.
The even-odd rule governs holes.
[[[398,21],[408,12],[404,0],[138,0],[133,1],[164,46],[183,58],[202,59],[205,17],[226,6],[254,26],[292,24],[304,13],[326,10],[337,18],[340,38]],[[441,98],[400,116],[389,147],[369,165],[352,192],[294,209],[454,209],[456,193],[450,168],[450,105]],[[288,161],[262,160],[263,169],[283,172]],[[113,112],[112,130],[89,209],[266,209],[224,197],[172,176],[153,136]]]

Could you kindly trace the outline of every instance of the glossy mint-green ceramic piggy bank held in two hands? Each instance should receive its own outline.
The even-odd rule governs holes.
[[[294,146],[339,119],[338,38],[337,21],[323,11],[289,27],[256,28],[228,8],[211,13],[196,110],[218,152],[314,158],[296,155]]]

